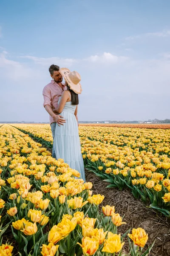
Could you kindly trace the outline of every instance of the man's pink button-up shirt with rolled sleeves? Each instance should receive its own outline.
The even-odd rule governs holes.
[[[64,85],[64,84],[63,84]],[[64,90],[67,90],[67,87],[64,86]],[[62,88],[57,84],[54,80],[51,80],[51,83],[45,85],[42,94],[44,97],[44,103],[45,105],[50,105],[52,109],[58,107],[58,101],[59,97],[62,95]],[[50,116],[50,124],[56,122],[52,116]]]

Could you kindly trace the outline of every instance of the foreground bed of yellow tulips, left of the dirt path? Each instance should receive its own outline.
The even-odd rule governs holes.
[[[50,127],[45,127],[46,136]],[[29,132],[38,137],[38,130],[33,130],[32,126]],[[80,136],[81,132],[80,128]],[[81,140],[85,159],[99,161],[88,158],[92,152],[86,152],[82,136]],[[145,231],[139,227],[120,234],[125,222],[116,207],[103,206],[100,212],[105,196],[93,195],[92,183],[78,177],[76,170],[51,157],[28,134],[11,125],[1,126],[0,255],[149,255],[153,244],[142,250],[148,239]]]

